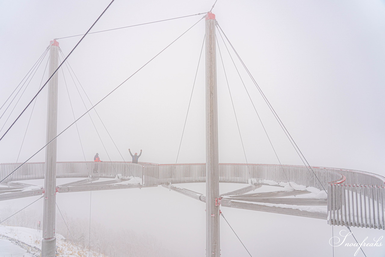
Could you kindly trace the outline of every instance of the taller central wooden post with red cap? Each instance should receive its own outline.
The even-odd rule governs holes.
[[[219,160],[215,15],[206,14],[206,256],[219,257]]]

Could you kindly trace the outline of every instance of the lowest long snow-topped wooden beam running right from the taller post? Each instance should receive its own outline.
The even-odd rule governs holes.
[[[271,212],[271,213],[280,213],[280,214],[286,214],[286,215],[316,218],[321,220],[326,220],[328,217],[327,213],[301,211],[299,209],[266,206],[266,205],[259,205],[254,203],[243,203],[243,202],[229,200],[229,199],[222,199],[221,205],[226,207],[231,207],[231,208],[254,210],[254,211],[265,211],[265,212]]]

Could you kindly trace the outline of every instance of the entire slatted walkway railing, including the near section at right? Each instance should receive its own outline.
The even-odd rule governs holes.
[[[0,164],[0,178],[16,170],[4,181],[44,179],[44,162],[20,165]],[[57,178],[115,178],[117,174],[142,178],[142,186],[204,183],[206,164],[57,162]],[[330,167],[221,163],[219,182],[275,186],[291,182],[326,189],[329,224],[385,229],[385,178],[377,174]]]

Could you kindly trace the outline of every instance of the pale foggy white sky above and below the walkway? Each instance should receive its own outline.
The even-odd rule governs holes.
[[[213,2],[116,0],[92,31],[207,12]],[[3,49],[0,104],[50,40],[85,33],[108,3],[0,2],[0,47]],[[383,1],[218,0],[213,13],[310,165],[358,169],[385,176]],[[90,100],[96,103],[201,17],[90,34],[68,61]],[[176,162],[203,37],[204,20],[96,107],[125,160],[130,161],[130,148],[133,152],[143,149],[139,161]],[[276,164],[278,160],[253,105],[219,34],[217,37],[248,162]],[[67,55],[79,40],[80,37],[71,37],[58,41]],[[217,50],[219,161],[245,162],[219,58]],[[46,61],[42,62],[1,134],[37,92]],[[239,63],[237,67],[281,163],[302,164],[258,90]],[[75,117],[79,117],[85,108],[66,69],[64,74]],[[205,162],[204,76],[202,56],[178,162]],[[47,74],[43,83],[46,80]],[[45,89],[37,98],[18,161],[25,161],[45,144],[46,96]],[[0,142],[0,162],[17,161],[31,110],[24,113]],[[90,114],[111,160],[122,161],[95,113]],[[1,127],[4,122],[3,117]],[[60,71],[58,132],[72,122]],[[108,161],[88,115],[77,124],[86,160],[92,161],[95,152],[99,152],[100,158]],[[31,161],[44,161],[44,151]],[[58,161],[84,161],[74,126],[58,138]],[[184,186],[204,191],[203,184]],[[226,191],[224,187],[231,186],[223,185]],[[77,203],[73,203],[75,194]],[[89,193],[60,195],[57,200],[68,213],[88,217]],[[33,199],[12,201],[22,207]],[[93,193],[93,201],[94,220],[104,220],[115,227],[125,225],[145,230],[164,240],[164,245],[170,248],[174,245],[170,242],[177,241],[176,250],[181,256],[204,255],[205,206],[202,203],[163,188],[99,191]],[[1,202],[0,206],[7,202]],[[226,209],[226,213],[234,230],[255,256],[257,253],[261,256],[331,254],[328,245],[331,227],[324,220],[248,210]],[[378,230],[360,228],[355,228],[353,233],[362,238],[383,235]],[[298,247],[303,255],[299,255]],[[239,256],[247,256],[224,221],[221,249],[223,256],[238,256],[237,252],[241,253]],[[343,250],[335,249],[340,251],[338,256],[352,256]],[[383,252],[368,249],[370,251],[372,256]]]

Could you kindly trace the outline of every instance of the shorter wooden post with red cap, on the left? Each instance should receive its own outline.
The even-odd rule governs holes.
[[[59,66],[59,43],[50,42],[49,76]],[[57,76],[50,79],[48,86],[47,143],[57,135]],[[56,139],[45,148],[44,210],[42,257],[55,257],[55,200],[56,200]]]

